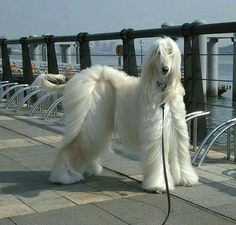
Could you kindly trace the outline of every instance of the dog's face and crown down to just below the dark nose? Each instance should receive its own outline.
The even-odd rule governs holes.
[[[177,44],[168,37],[155,41],[146,57],[144,73],[166,82],[171,76],[180,76],[181,54]],[[173,78],[172,78],[173,79]]]

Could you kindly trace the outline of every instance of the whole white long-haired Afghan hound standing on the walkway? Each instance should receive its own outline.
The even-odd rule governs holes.
[[[33,85],[64,92],[65,134],[50,181],[71,184],[101,173],[99,156],[109,149],[112,133],[118,132],[125,149],[141,155],[143,188],[165,191],[163,131],[169,189],[197,184],[180,69],[180,50],[166,37],[152,45],[139,78],[100,65],[81,71],[66,84],[55,84],[65,81],[63,75],[40,75]]]

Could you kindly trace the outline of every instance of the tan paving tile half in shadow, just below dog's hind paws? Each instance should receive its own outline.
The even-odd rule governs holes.
[[[78,205],[112,200],[106,194],[83,183],[55,186],[52,190]]]

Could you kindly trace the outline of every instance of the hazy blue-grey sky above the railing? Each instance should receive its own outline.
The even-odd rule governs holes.
[[[0,0],[0,36],[72,35],[236,20],[236,0]]]

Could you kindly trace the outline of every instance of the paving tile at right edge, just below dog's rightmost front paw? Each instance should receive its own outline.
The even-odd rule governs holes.
[[[180,187],[173,194],[204,207],[214,207],[234,202],[236,188],[224,182],[211,182],[189,188]]]

